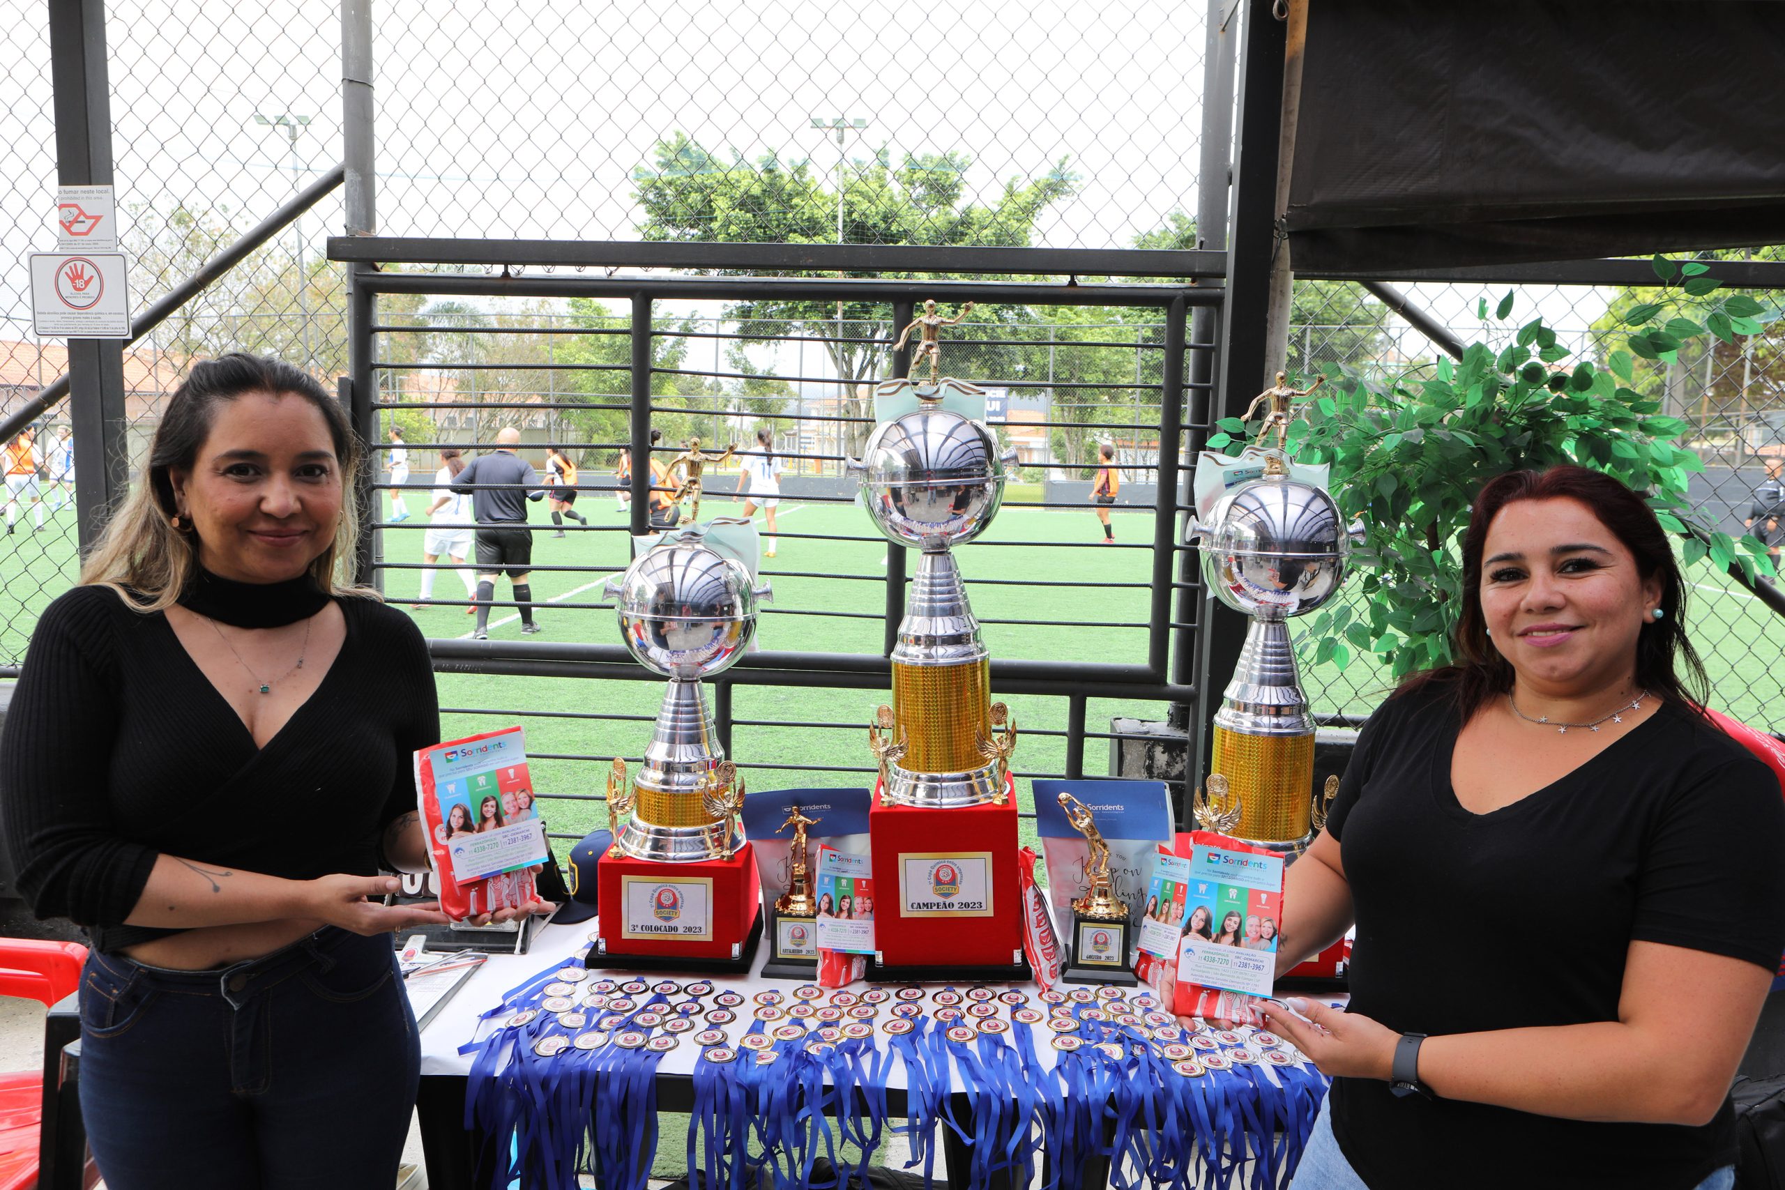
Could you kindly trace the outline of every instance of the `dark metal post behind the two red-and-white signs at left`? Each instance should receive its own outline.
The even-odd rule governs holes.
[[[105,75],[104,0],[50,0],[50,80],[55,103],[55,178],[111,186],[111,84]],[[70,339],[70,421],[75,434],[75,514],[80,551],[98,541],[130,489],[123,341]]]

